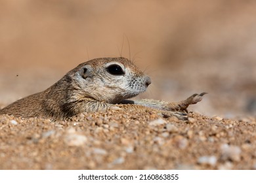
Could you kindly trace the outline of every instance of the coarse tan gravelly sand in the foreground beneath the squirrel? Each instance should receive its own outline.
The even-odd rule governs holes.
[[[1,169],[256,169],[256,118],[186,121],[110,110],[65,121],[0,116]]]

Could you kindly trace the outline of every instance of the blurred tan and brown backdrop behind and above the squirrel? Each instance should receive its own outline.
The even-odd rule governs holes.
[[[205,115],[256,114],[256,1],[0,0],[1,107],[88,59],[131,58],[151,76],[138,98]]]

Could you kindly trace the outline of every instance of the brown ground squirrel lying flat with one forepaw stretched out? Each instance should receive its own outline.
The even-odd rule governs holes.
[[[205,93],[184,101],[168,103],[152,99],[127,100],[145,92],[150,77],[126,58],[98,58],[81,63],[47,90],[24,97],[0,110],[17,117],[63,120],[81,112],[110,108],[158,110],[163,116],[185,119],[186,108],[198,103]]]

